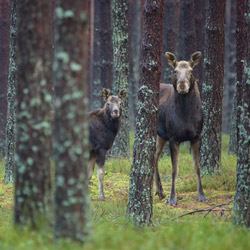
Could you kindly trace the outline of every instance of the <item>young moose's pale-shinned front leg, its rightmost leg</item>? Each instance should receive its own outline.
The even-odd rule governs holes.
[[[105,157],[106,157],[106,151],[100,150],[99,154],[97,155],[97,160],[96,160],[100,201],[105,200],[104,191],[103,191]]]

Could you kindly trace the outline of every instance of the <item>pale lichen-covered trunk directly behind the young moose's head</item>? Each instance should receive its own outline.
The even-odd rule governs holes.
[[[128,89],[129,80],[129,39],[127,0],[112,0],[113,23],[113,91]],[[129,107],[128,96],[122,102],[122,121],[111,152],[115,156],[129,156]]]

